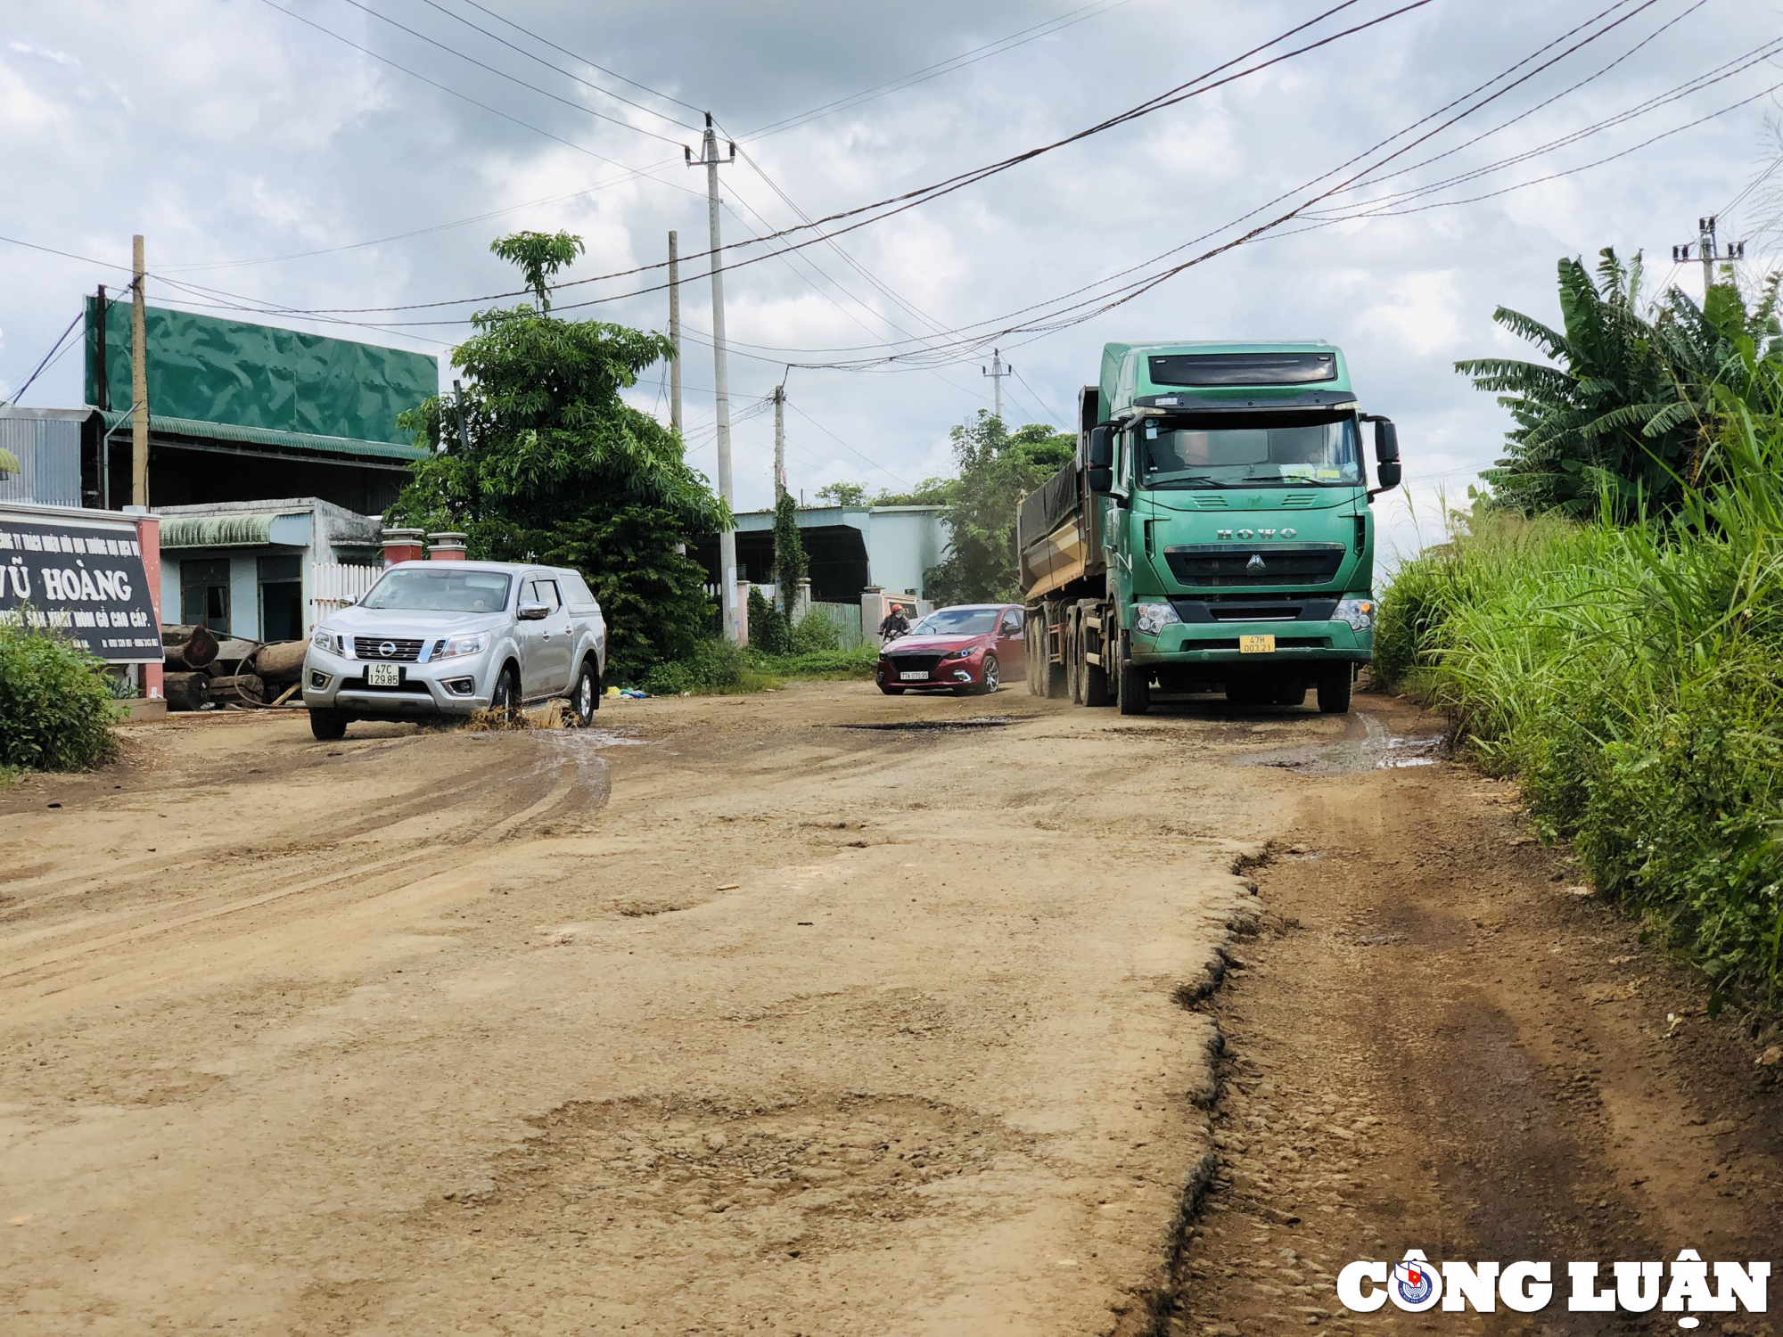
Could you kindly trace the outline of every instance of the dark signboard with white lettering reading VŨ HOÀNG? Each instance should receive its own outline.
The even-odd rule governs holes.
[[[162,660],[128,524],[0,512],[0,620],[53,629],[109,663]]]

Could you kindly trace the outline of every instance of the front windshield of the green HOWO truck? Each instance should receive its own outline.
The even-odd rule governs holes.
[[[1332,414],[1146,419],[1136,431],[1143,487],[1305,487],[1362,481],[1355,419]]]

